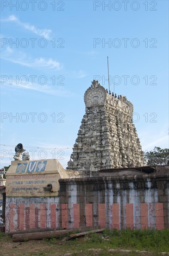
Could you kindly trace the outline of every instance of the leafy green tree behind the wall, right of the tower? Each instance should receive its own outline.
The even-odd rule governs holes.
[[[155,147],[150,152],[145,152],[147,165],[169,165],[169,148]]]

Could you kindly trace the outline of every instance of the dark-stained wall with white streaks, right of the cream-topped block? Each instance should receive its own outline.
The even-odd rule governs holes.
[[[169,228],[169,175],[60,180],[65,228]]]

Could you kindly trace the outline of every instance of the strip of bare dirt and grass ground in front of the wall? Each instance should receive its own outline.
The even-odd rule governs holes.
[[[71,233],[72,234],[72,233]],[[71,255],[71,256],[136,256],[143,255],[139,251],[149,251],[150,256],[160,255],[160,252],[169,252],[169,229],[140,230],[140,229],[105,229],[102,233],[89,233],[87,236],[75,238],[70,241],[51,237],[41,241],[28,241],[27,243],[13,243],[12,239],[0,233],[2,255],[17,256],[45,256],[45,255]],[[10,239],[10,241],[9,241]],[[6,249],[6,245],[11,244]],[[117,250],[116,250],[117,249]],[[129,249],[130,252],[120,251]],[[139,250],[139,251],[137,251]],[[7,253],[7,254],[6,254]],[[146,255],[146,252],[144,252]]]

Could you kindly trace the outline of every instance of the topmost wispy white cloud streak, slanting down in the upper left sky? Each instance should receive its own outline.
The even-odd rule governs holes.
[[[51,29],[38,29],[34,25],[30,25],[29,23],[24,23],[21,22],[15,15],[10,15],[7,19],[3,19],[2,21],[5,22],[16,22],[19,26],[31,31],[34,34],[43,36],[45,39],[50,40],[50,34],[51,34]]]

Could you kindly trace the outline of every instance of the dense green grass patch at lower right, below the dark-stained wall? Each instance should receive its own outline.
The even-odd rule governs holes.
[[[90,234],[85,239],[90,246],[99,244],[100,248],[169,252],[169,229],[106,229],[103,234]]]

